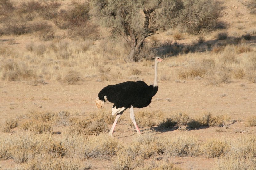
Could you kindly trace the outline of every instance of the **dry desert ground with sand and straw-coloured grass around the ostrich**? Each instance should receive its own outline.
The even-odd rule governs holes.
[[[127,109],[109,137],[113,104],[99,110],[95,99],[107,85],[153,84],[153,60],[127,62],[126,42],[102,27],[97,40],[56,26],[46,41],[38,32],[3,33],[0,169],[256,169],[256,15],[249,1],[221,2],[225,29],[171,28],[145,40],[165,52],[158,92],[134,109],[141,136]],[[199,50],[168,56],[172,42]]]

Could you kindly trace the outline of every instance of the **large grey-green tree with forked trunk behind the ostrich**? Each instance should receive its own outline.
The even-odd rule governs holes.
[[[128,61],[139,60],[144,40],[172,26],[171,19],[183,9],[181,0],[93,0],[92,14],[122,36],[131,50]]]

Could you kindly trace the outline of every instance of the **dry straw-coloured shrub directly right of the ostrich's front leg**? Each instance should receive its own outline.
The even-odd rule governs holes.
[[[156,126],[160,121],[163,120],[163,112],[161,111],[139,111],[135,113],[136,123],[139,128],[153,127]],[[130,120],[130,126],[134,127]]]

